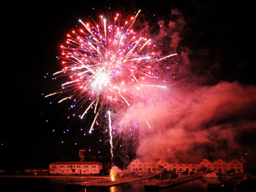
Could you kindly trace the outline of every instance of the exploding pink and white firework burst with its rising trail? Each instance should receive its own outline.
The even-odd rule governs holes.
[[[111,157],[110,114],[136,104],[135,93],[142,87],[164,89],[165,85],[152,71],[152,65],[176,55],[157,57],[154,40],[147,38],[144,30],[134,30],[139,12],[127,21],[119,14],[113,20],[99,16],[98,23],[79,20],[82,28],[67,34],[66,43],[61,46],[58,59],[63,69],[53,74],[68,80],[61,85],[61,91],[47,95],[61,95],[59,103],[71,99],[71,107],[77,109],[81,119],[93,110],[95,116],[89,133],[100,114],[106,114],[109,117]],[[155,79],[157,83],[145,83],[147,79]]]

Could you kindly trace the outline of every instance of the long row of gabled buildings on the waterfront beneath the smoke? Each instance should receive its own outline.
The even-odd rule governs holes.
[[[241,158],[242,160],[242,158]],[[166,160],[139,160],[135,159],[130,162],[131,172],[156,172],[161,170],[175,171],[175,172],[191,172],[191,171],[211,171],[218,173],[225,173],[226,171],[233,171],[234,173],[244,172],[244,163],[239,160],[231,160],[225,162],[224,160],[216,160],[211,162],[203,159],[199,163],[171,163]]]

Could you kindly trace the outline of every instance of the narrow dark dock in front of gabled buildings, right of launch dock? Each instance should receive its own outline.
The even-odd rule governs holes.
[[[157,189],[163,189],[163,188],[171,187],[174,185],[182,184],[182,183],[189,182],[199,178],[201,178],[201,175],[193,174],[193,175],[172,179],[170,181],[164,181],[164,182],[160,182],[152,185],[144,185],[144,187],[145,189],[149,189],[149,190],[157,190]]]

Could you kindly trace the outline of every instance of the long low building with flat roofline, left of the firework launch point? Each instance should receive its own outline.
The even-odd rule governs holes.
[[[97,174],[102,163],[96,161],[56,161],[50,163],[50,174]]]

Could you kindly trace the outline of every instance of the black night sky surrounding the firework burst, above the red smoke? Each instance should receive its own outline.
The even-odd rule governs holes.
[[[151,24],[160,20],[178,23],[177,17],[171,17],[170,13],[172,9],[179,10],[186,22],[186,27],[179,31],[183,47],[180,50],[184,51],[185,47],[192,50],[189,71],[193,73],[192,78],[201,78],[198,84],[214,86],[222,81],[236,81],[253,88],[256,85],[253,53],[255,4],[250,1],[8,2],[1,8],[3,115],[0,169],[11,165],[47,165],[60,156],[66,156],[68,160],[68,150],[77,156],[78,149],[93,145],[90,141],[94,138],[83,141],[79,146],[73,145],[74,141],[80,141],[79,134],[74,131],[70,137],[76,139],[70,139],[65,149],[59,146],[64,137],[63,129],[57,133],[52,130],[64,124],[65,112],[58,110],[58,106],[47,107],[49,100],[42,93],[57,86],[45,80],[44,76],[60,69],[56,56],[59,56],[60,44],[64,42],[66,33],[79,25],[79,19],[95,17],[95,10],[105,11],[109,6],[112,11],[124,9],[130,14],[141,9],[146,19],[155,14],[149,21]],[[177,85],[186,84],[187,79],[182,81],[182,77],[188,74],[180,74]],[[255,100],[252,103],[255,104]],[[252,112],[251,119],[255,120],[255,110]],[[47,124],[47,119],[56,121]],[[255,131],[253,135],[256,135]]]

